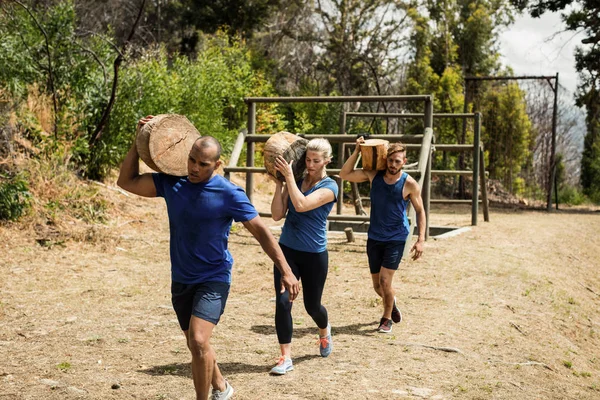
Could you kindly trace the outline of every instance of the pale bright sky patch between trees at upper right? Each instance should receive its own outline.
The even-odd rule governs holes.
[[[504,65],[515,75],[554,76],[572,93],[577,87],[575,47],[582,35],[563,31],[560,13],[545,13],[541,18],[528,14],[518,16],[515,23],[500,35],[500,52]]]

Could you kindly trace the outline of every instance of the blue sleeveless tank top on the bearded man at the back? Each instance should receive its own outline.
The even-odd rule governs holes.
[[[404,200],[402,189],[408,174],[388,185],[383,180],[385,171],[379,171],[371,182],[371,218],[369,238],[381,242],[401,241],[408,238],[410,225],[406,215],[409,200]]]

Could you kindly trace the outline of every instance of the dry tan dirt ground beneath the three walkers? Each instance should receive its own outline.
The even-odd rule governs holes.
[[[258,186],[267,211],[269,185]],[[118,212],[79,240],[0,227],[0,399],[195,398],[170,305],[164,203],[103,194]],[[470,212],[432,207],[430,219],[468,227]],[[332,234],[324,304],[334,351],[319,356],[300,298],[296,369],[281,377],[268,374],[279,355],[272,264],[236,224],[232,291],[213,339],[234,398],[599,399],[600,212],[492,209],[490,219],[430,238],[421,260],[401,264],[404,321],[391,335],[375,332],[366,238]]]

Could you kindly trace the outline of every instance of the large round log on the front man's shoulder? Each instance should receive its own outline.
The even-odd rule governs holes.
[[[185,116],[159,114],[138,129],[136,146],[140,158],[153,170],[186,176],[188,156],[199,137]]]

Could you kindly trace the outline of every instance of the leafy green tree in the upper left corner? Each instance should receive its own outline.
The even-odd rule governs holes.
[[[89,134],[106,94],[113,49],[100,35],[80,36],[76,24],[70,0],[35,9],[9,2],[0,13],[0,90],[10,94],[15,110],[33,86],[52,97],[51,146]]]

